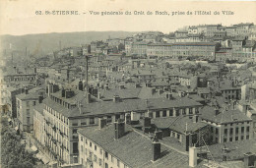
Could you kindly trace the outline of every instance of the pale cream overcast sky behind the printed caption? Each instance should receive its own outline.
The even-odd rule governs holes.
[[[77,10],[78,16],[35,15],[35,11]],[[212,11],[212,16],[92,16],[89,11]],[[214,16],[214,11],[233,11]],[[199,24],[256,24],[256,2],[191,2],[170,0],[1,0],[1,34],[72,32],[87,30],[173,31]],[[83,13],[87,13],[84,15]],[[171,13],[170,13],[171,14]]]

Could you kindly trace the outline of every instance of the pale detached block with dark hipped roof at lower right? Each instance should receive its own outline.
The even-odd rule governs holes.
[[[251,140],[253,138],[252,119],[234,107],[229,107],[229,109],[225,107],[221,110],[217,107],[206,106],[201,113],[202,121],[211,126],[212,139],[215,142]]]

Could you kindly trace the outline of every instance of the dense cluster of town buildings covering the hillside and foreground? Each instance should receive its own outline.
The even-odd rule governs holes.
[[[48,165],[255,166],[254,33],[253,24],[151,31],[26,68],[9,62],[1,110]]]

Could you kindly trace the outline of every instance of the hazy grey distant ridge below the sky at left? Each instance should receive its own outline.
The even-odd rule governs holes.
[[[37,33],[25,35],[10,35],[4,34],[0,36],[2,50],[25,51],[27,47],[30,53],[40,51],[43,53],[52,52],[59,49],[59,41],[61,46],[80,46],[81,44],[90,43],[93,40],[105,40],[109,36],[127,37],[131,36],[136,31],[78,31],[78,32],[51,32],[51,33]]]

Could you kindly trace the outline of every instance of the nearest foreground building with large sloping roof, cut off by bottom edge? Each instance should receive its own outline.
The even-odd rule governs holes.
[[[154,140],[150,140],[143,132],[123,122],[117,121],[109,126],[105,126],[104,120],[100,120],[100,123],[99,127],[78,131],[81,151],[79,159],[84,167],[188,168],[192,166],[188,164],[187,155],[162,145],[157,133]],[[196,153],[191,153],[189,158],[193,158],[192,155],[196,156]],[[197,163],[193,165],[196,166]]]

